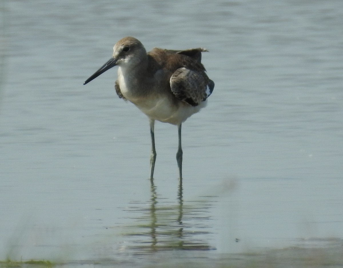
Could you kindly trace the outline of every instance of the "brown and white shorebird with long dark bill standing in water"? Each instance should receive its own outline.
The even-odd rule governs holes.
[[[201,52],[205,51],[203,48],[154,48],[146,52],[139,40],[125,37],[114,45],[113,56],[83,83],[87,84],[118,65],[118,80],[115,82],[117,95],[132,102],[150,121],[151,180],[156,161],[155,120],[178,127],[176,160],[182,180],[181,125],[206,106],[214,88],[214,82],[207,76],[201,63]]]

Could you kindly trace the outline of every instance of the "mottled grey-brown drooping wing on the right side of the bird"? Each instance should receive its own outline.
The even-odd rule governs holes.
[[[177,69],[170,77],[170,89],[176,98],[197,106],[213,91],[214,83],[205,72],[185,67]]]

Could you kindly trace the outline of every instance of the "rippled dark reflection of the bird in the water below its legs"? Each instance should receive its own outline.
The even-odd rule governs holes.
[[[184,202],[181,182],[176,203],[160,197],[153,180],[150,189],[148,207],[143,207],[146,202],[131,203],[128,207],[129,218],[133,223],[126,227],[127,231],[124,230],[123,234],[130,244],[127,245],[128,248],[136,254],[172,249],[215,249],[209,243],[213,236],[212,219],[209,216],[215,202],[212,198],[200,197],[202,200]]]

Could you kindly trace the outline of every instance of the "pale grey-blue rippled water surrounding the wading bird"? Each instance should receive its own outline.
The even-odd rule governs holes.
[[[2,1],[0,14],[0,259],[137,266],[343,237],[341,0]],[[125,36],[210,50],[181,200],[177,128],[156,123],[154,192],[148,120],[116,96],[115,68],[83,86]],[[194,250],[168,250],[180,244]]]

